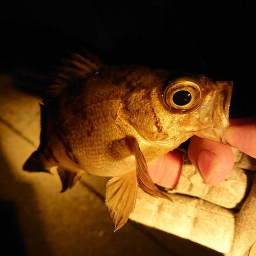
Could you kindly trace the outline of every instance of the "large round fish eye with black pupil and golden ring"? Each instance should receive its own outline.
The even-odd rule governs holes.
[[[196,80],[180,77],[166,84],[162,99],[164,104],[174,111],[193,111],[201,103],[201,90]]]

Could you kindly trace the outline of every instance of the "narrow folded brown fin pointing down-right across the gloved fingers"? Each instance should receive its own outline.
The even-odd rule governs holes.
[[[160,191],[160,189],[154,184],[154,182],[148,175],[146,160],[142,152],[140,151],[138,141],[135,138],[127,138],[126,143],[130,147],[133,155],[135,156],[137,174],[136,176],[140,188],[152,197],[165,198],[173,202],[172,199],[170,199],[168,196]]]

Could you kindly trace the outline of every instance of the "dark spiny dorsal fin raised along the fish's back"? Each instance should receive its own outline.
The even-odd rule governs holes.
[[[53,74],[51,83],[42,100],[44,105],[48,105],[53,98],[60,95],[61,92],[74,81],[78,79],[86,79],[106,66],[101,59],[94,56],[92,53],[86,50],[84,50],[84,52],[87,55],[86,57],[69,52],[71,59],[59,58],[62,61],[63,66],[57,67],[57,72]]]

